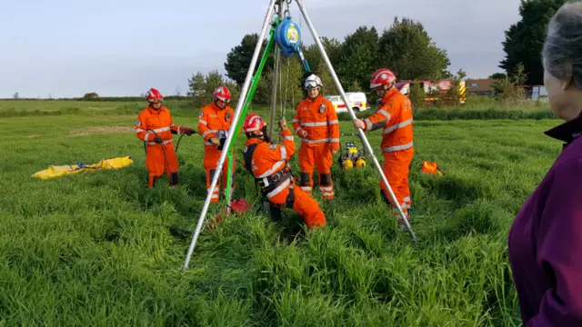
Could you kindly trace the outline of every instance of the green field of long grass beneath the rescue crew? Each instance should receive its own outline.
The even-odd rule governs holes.
[[[11,105],[0,103],[0,114],[16,110]],[[374,167],[335,166],[337,203],[322,204],[325,231],[306,235],[293,212],[272,223],[255,206],[206,228],[182,272],[191,235],[167,226],[196,226],[206,198],[202,140],[182,139],[182,186],[169,190],[164,181],[148,190],[143,144],[133,134],[139,106],[103,105],[94,114],[82,107],[0,118],[0,326],[519,325],[507,231],[560,151],[542,134],[558,121],[417,122],[416,243],[387,216]],[[196,114],[176,110],[176,124],[196,128]],[[349,123],[342,131],[354,132]],[[380,134],[369,140],[377,151]],[[31,177],[51,164],[121,155],[135,163]],[[421,175],[422,160],[436,161],[444,176]],[[292,164],[298,172],[296,158]],[[240,168],[236,198],[256,204],[253,180]]]

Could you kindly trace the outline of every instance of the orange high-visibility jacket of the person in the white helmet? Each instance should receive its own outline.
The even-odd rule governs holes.
[[[336,109],[321,95],[315,100],[307,97],[297,105],[293,128],[297,135],[301,130],[307,131],[307,137],[302,139],[302,142],[308,146],[329,143],[332,150],[339,150],[339,121]]]

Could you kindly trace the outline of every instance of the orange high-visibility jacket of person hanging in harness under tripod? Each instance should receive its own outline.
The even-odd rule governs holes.
[[[251,154],[251,170],[256,179],[267,179],[286,168],[287,161],[295,154],[295,141],[293,134],[286,128],[281,131],[283,137],[283,144],[270,144],[268,142],[251,138],[246,140],[246,148],[250,148],[256,144],[254,152]],[[246,151],[245,151],[246,153]],[[247,162],[245,155],[245,163]],[[276,196],[276,194],[283,192],[291,183],[291,179],[278,181],[278,185],[272,185],[272,191],[266,194],[268,199]]]

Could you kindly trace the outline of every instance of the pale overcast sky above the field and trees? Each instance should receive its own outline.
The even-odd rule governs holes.
[[[197,71],[225,74],[230,49],[258,33],[268,0],[6,0],[0,20],[0,97],[182,94]],[[304,0],[317,33],[343,40],[360,25],[379,33],[395,15],[425,25],[450,70],[500,71],[504,31],[519,0]],[[292,15],[302,20],[296,3]],[[313,43],[305,22],[303,40]],[[371,72],[372,73],[372,72]]]

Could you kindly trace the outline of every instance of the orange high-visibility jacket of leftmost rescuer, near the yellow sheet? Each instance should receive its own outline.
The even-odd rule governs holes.
[[[164,140],[164,144],[169,144],[174,141],[172,132],[182,134],[183,129],[184,126],[174,124],[170,111],[163,105],[159,110],[147,107],[139,113],[135,122],[135,136],[146,141],[148,145],[156,144],[154,142],[156,134]]]

